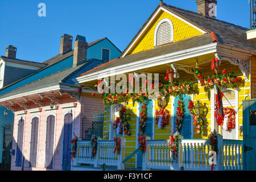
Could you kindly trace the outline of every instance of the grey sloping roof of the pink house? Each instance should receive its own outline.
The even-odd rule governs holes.
[[[61,84],[69,84],[69,85],[77,86],[72,81],[73,77],[76,77],[77,75],[81,74],[82,72],[88,71],[89,69],[92,69],[95,65],[99,65],[102,63],[106,63],[106,61],[90,59],[90,60],[86,61],[86,63],[81,64],[77,67],[69,67],[62,71],[53,73],[52,75],[43,77],[39,80],[30,82],[29,84],[20,86],[19,88],[16,88],[10,92],[2,94],[0,96],[0,99],[6,98],[9,96],[15,96],[17,94],[31,92],[33,90],[47,88],[49,86],[57,86],[57,85],[61,85]]]

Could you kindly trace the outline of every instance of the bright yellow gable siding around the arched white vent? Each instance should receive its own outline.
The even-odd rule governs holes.
[[[161,10],[159,15],[156,16],[156,18],[151,22],[151,25],[147,28],[146,31],[144,31],[144,34],[141,36],[141,38],[138,39],[137,43],[134,44],[135,46],[131,48],[127,55],[154,48],[155,27],[163,18],[168,18],[172,21],[174,26],[174,42],[203,34],[199,30],[196,30],[196,28],[189,26],[189,24]]]

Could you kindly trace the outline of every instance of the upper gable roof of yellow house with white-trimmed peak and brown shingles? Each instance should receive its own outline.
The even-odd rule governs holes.
[[[166,5],[165,3],[163,3],[163,5],[160,4],[158,7],[156,7],[150,18],[148,18],[146,23],[143,24],[142,28],[134,36],[133,40],[131,40],[131,42],[122,52],[120,57],[126,56],[126,54],[129,52],[128,50],[133,47],[133,44],[136,40],[138,40],[144,28],[147,27],[148,24],[150,24],[152,18],[154,18],[156,13],[158,13],[161,9],[185,20],[186,22],[192,24],[197,28],[200,28],[200,30],[202,30],[202,32],[204,31],[205,34],[214,32],[218,36],[219,42],[222,44],[232,45],[234,47],[243,49],[249,49],[251,51],[256,50],[256,42],[254,40],[247,40],[246,31],[249,30],[248,28],[237,26],[236,24],[210,18],[209,16],[204,16],[193,11],[180,9],[179,7]]]

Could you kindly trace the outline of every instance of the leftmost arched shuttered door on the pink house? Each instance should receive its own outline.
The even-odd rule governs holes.
[[[18,138],[17,138],[16,162],[15,162],[16,166],[22,166],[23,131],[24,131],[24,120],[20,119],[18,122]]]

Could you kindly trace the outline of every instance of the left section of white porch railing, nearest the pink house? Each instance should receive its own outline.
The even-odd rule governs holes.
[[[90,140],[77,141],[77,158],[74,166],[81,164],[92,164],[94,167],[105,164],[105,166],[116,166],[117,169],[124,169],[122,163],[125,152],[125,138],[121,139],[120,153],[115,150],[114,140],[98,140],[97,153],[92,159],[92,144]]]

